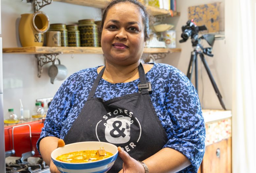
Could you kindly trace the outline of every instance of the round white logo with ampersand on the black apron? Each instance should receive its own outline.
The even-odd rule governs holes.
[[[135,128],[136,131],[134,131],[134,127],[137,127]],[[99,141],[118,144],[127,152],[136,147],[142,133],[141,124],[134,117],[133,112],[122,109],[113,110],[102,116],[102,120],[97,123],[95,131]]]

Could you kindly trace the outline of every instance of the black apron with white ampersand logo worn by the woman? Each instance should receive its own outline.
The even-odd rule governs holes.
[[[109,142],[122,147],[132,158],[143,161],[161,150],[167,142],[149,92],[144,88],[141,92],[107,101],[94,98],[104,69],[94,81],[88,99],[64,141],[66,144],[82,141]],[[146,84],[142,64],[138,69],[141,84]],[[122,164],[121,158],[117,157],[108,172],[119,172]]]

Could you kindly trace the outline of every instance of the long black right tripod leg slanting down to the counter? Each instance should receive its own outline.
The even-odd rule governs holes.
[[[201,58],[202,62],[204,63],[205,69],[206,69],[206,71],[207,71],[207,73],[208,73],[208,76],[209,76],[209,78],[210,78],[211,84],[212,84],[212,86],[213,86],[213,88],[214,88],[214,90],[215,90],[215,93],[216,93],[216,95],[217,95],[217,97],[218,97],[218,99],[219,99],[219,102],[220,102],[222,108],[223,108],[224,110],[226,110],[225,105],[224,105],[224,103],[223,103],[223,101],[222,101],[222,96],[221,96],[221,94],[220,94],[220,91],[219,91],[219,89],[218,89],[218,87],[217,87],[217,85],[216,85],[216,83],[215,83],[215,81],[214,81],[214,79],[213,79],[213,76],[212,76],[212,74],[211,74],[211,72],[210,72],[209,66],[208,66],[208,64],[207,64],[207,62],[206,62],[206,60],[205,60],[205,57],[204,57],[203,53],[200,53],[200,58]]]

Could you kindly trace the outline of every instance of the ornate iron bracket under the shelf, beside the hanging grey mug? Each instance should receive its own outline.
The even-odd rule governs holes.
[[[62,52],[50,54],[36,54],[38,66],[37,76],[39,78],[41,77],[41,73],[43,73],[43,65],[47,64],[48,62],[54,62],[59,54],[62,54]]]

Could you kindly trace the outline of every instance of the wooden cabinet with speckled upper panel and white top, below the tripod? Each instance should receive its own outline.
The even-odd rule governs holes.
[[[231,111],[203,111],[206,150],[198,173],[232,172]],[[219,119],[214,119],[218,117]]]

